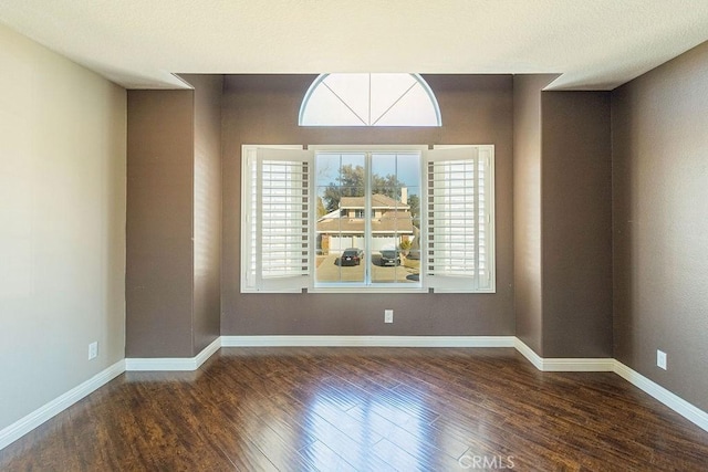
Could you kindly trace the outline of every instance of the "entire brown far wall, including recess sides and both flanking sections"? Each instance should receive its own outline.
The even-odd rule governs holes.
[[[131,283],[127,292],[128,357],[194,356],[216,338],[219,221],[222,335],[517,334],[545,357],[612,354],[607,94],[542,99],[553,76],[514,83],[507,75],[428,75],[440,128],[304,128],[298,111],[313,75],[227,76],[222,96],[218,78],[187,78],[200,84],[196,93],[129,95],[128,250],[133,240],[144,244],[128,255],[128,281],[146,282]],[[219,103],[221,218],[215,204]],[[241,294],[242,144],[493,144],[498,292]],[[165,197],[169,191],[175,199]],[[170,228],[175,221],[183,225]],[[187,221],[195,224],[194,252]],[[183,234],[189,241],[179,247]],[[184,277],[190,263],[191,281]],[[396,313],[393,325],[383,323],[385,308]]]

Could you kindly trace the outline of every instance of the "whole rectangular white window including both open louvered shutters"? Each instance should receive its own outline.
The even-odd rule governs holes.
[[[243,146],[241,169],[242,292],[496,290],[491,145]]]

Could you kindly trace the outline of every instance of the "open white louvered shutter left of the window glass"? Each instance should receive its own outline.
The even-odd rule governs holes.
[[[302,149],[243,147],[242,291],[309,287],[311,161]]]

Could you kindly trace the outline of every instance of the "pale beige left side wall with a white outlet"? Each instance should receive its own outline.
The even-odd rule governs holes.
[[[1,25],[0,71],[1,430],[124,358],[126,94]]]

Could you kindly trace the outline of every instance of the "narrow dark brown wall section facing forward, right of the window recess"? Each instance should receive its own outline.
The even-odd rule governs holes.
[[[612,357],[608,92],[543,92],[543,356]]]

